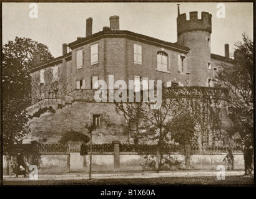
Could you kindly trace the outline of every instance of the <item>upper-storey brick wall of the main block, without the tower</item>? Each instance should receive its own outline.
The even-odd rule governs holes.
[[[91,65],[90,46],[99,45],[99,63]],[[134,63],[134,44],[142,45],[142,65]],[[76,51],[83,49],[83,67],[76,69]],[[170,73],[157,71],[157,52],[164,50],[168,54]],[[114,81],[134,80],[135,75],[147,77],[149,80],[173,81],[185,85],[185,73],[178,72],[178,55],[182,53],[163,49],[126,38],[105,38],[84,45],[72,51],[72,65],[67,66],[67,93],[76,88],[76,81],[86,79],[86,88],[91,88],[92,76],[105,80],[107,85],[109,75],[114,75]],[[187,68],[189,62],[186,61]],[[186,69],[186,68],[185,68]]]

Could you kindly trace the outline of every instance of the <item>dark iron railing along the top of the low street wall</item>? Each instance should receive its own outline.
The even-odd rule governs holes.
[[[32,145],[24,144],[14,145],[12,147],[13,152],[16,152],[16,148],[20,150],[24,150],[27,152],[37,151],[37,152],[90,152],[89,144],[38,144]],[[120,152],[137,152],[137,153],[156,153],[157,145],[147,145],[147,144],[120,144],[119,145]],[[190,152],[228,152],[231,150],[232,152],[242,152],[242,146],[191,146]],[[4,147],[4,152],[8,150]],[[11,150],[12,151],[12,150]],[[17,150],[18,151],[18,150]],[[113,144],[92,144],[92,152],[113,152],[114,147]],[[160,147],[160,152],[185,152],[185,147],[176,146],[176,145],[164,145]]]

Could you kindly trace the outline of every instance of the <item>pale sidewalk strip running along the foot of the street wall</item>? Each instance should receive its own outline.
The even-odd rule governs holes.
[[[94,179],[107,179],[107,178],[160,178],[160,177],[216,177],[218,170],[211,171],[168,171],[159,172],[158,174],[154,172],[113,172],[113,173],[92,173],[92,178]],[[228,170],[225,171],[225,176],[230,175],[244,175],[244,170]],[[89,179],[89,174],[85,172],[81,173],[67,173],[67,174],[39,174],[38,180],[82,180]],[[6,181],[27,181],[29,179],[29,174],[26,178],[19,176],[16,178],[15,175],[4,175],[3,180]]]

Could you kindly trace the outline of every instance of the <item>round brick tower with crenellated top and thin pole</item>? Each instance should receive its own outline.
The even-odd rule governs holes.
[[[212,33],[212,15],[202,12],[198,19],[197,12],[189,12],[177,17],[177,44],[189,47],[189,86],[210,86],[210,34]]]

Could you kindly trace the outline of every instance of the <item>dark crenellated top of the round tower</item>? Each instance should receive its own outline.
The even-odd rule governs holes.
[[[189,12],[189,20],[185,13],[180,14],[177,17],[177,34],[192,30],[204,30],[212,33],[212,14],[202,12],[201,19],[198,19],[197,11]]]

